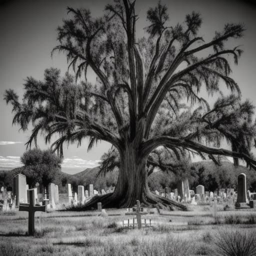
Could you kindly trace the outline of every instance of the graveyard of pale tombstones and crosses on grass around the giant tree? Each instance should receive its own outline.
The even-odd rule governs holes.
[[[38,196],[38,186],[28,189],[22,174],[14,176],[13,184],[12,191],[1,187],[0,193],[0,236],[12,244],[1,245],[3,255],[27,253],[24,244],[27,255],[143,255],[151,250],[158,255],[174,251],[176,245],[182,255],[212,255],[220,237],[256,228],[256,193],[246,190],[244,173],[237,176],[237,191],[204,191],[202,184],[193,191],[186,180],[173,191],[165,187],[162,196],[181,202],[186,211],[150,208],[138,200],[131,208],[104,209],[98,202],[84,211],[81,207],[105,194],[104,189],[78,185],[76,193],[67,183],[66,193],[58,193],[58,186],[49,183],[47,192]]]

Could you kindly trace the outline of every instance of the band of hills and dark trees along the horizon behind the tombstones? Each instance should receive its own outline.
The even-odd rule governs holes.
[[[203,171],[202,171],[203,168]],[[11,170],[0,170],[0,181],[3,179],[9,189],[12,187],[12,178],[18,173],[21,168],[14,168]],[[200,169],[200,170],[199,170]],[[59,187],[59,192],[65,192],[65,187],[62,186],[65,183],[71,183],[74,191],[77,190],[77,185],[84,185],[85,189],[88,189],[89,184],[93,184],[94,189],[107,189],[108,187],[115,186],[118,169],[110,171],[106,176],[98,175],[99,166],[94,168],[86,168],[75,174],[67,174],[61,172],[60,175],[56,177],[54,182]],[[200,173],[201,172],[201,173]],[[256,171],[249,170],[244,166],[238,166],[237,168],[231,162],[224,161],[221,166],[215,165],[212,161],[198,161],[191,163],[191,169],[186,171],[188,176],[190,189],[195,189],[195,187],[201,183],[205,186],[205,190],[213,191],[216,187],[225,188],[233,187],[236,188],[236,178],[237,174],[244,172],[247,177],[247,188],[251,191],[256,190]],[[163,191],[164,187],[168,186],[171,189],[176,188],[177,180],[180,175],[175,175],[173,173],[165,173],[161,170],[153,172],[148,176],[148,186],[150,190]],[[199,182],[202,179],[201,182]]]

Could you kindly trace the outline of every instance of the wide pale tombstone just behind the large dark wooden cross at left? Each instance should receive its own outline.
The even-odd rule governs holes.
[[[18,206],[20,202],[27,202],[25,175],[18,173],[13,177],[12,189],[13,195],[16,195],[16,206]]]

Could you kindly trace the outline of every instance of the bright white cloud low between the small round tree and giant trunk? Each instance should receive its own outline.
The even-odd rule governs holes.
[[[61,167],[65,168],[88,168],[98,166],[100,160],[85,160],[77,156],[67,157],[63,159]]]

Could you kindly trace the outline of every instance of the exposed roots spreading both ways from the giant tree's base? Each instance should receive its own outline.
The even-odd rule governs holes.
[[[134,199],[134,203],[132,205],[126,205],[126,204],[123,204],[123,198],[120,198],[120,196],[116,196],[114,195],[114,193],[107,193],[103,195],[95,195],[84,205],[73,206],[72,208],[68,208],[68,210],[75,210],[75,211],[94,210],[94,209],[97,209],[98,202],[101,202],[102,208],[126,208],[126,207],[132,207],[135,204],[136,199]],[[175,207],[181,210],[187,210],[187,207],[182,203],[178,203],[176,201],[173,201],[152,193],[147,194],[146,196],[142,196],[142,198],[140,198],[140,203],[143,206],[149,206],[152,208],[153,207],[160,208],[160,209],[167,208],[167,209],[173,210],[173,207]]]

